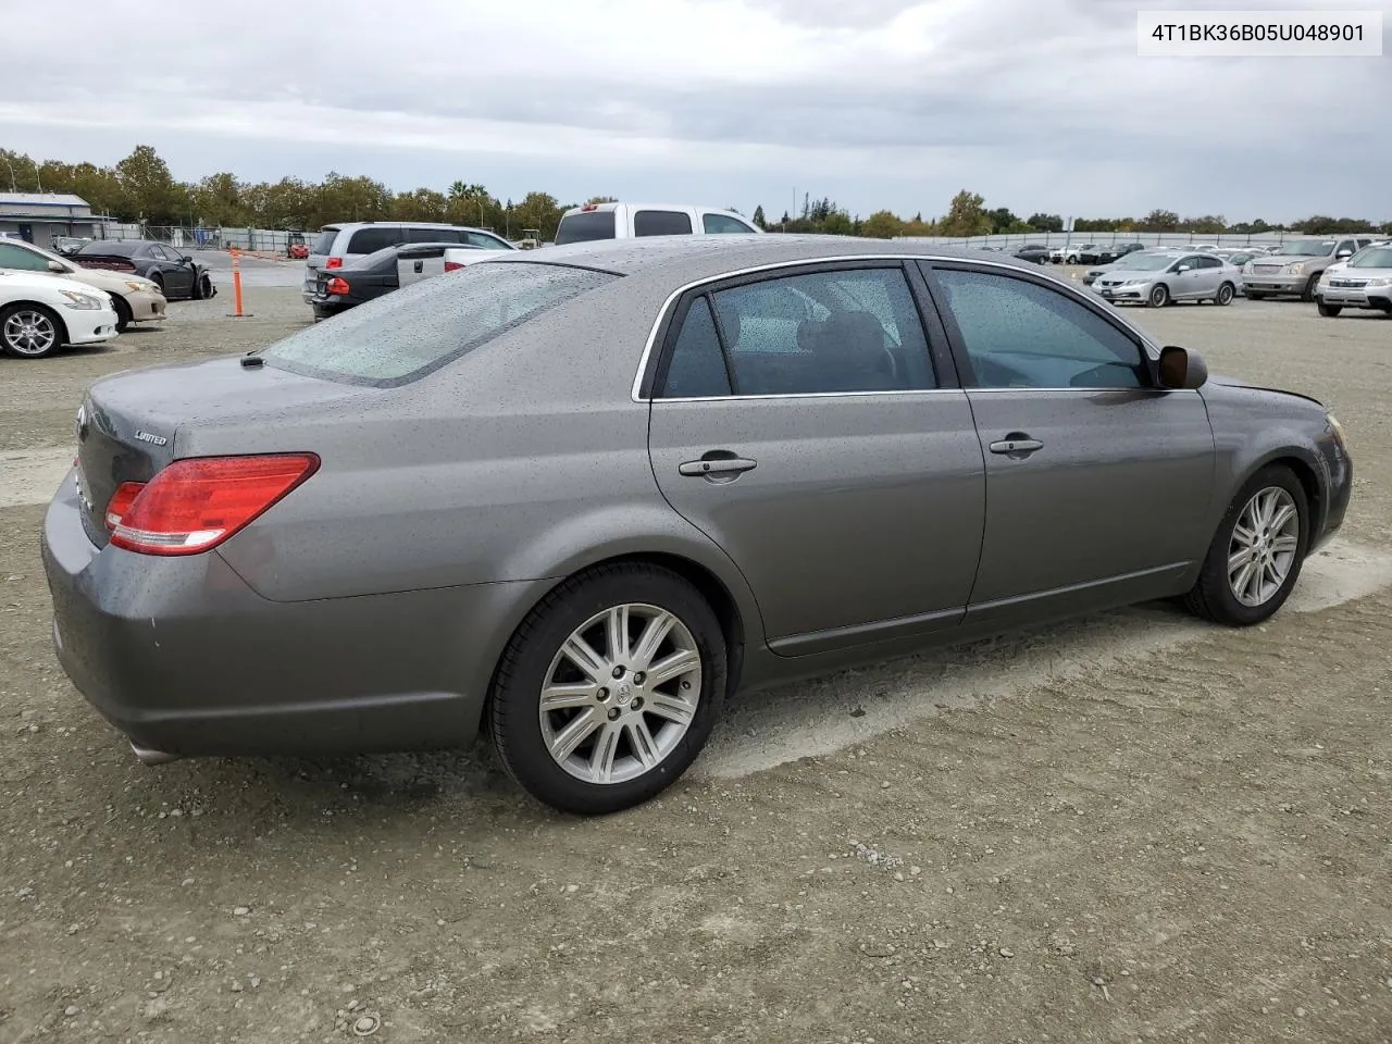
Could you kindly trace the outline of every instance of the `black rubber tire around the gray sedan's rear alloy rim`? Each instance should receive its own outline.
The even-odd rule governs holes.
[[[597,614],[617,606],[651,606],[674,614],[695,642],[700,657],[700,685],[695,713],[675,745],[653,767],[622,782],[589,782],[564,768],[547,748],[541,727],[540,693],[553,678],[548,672],[572,632]],[[504,767],[533,798],[560,812],[600,816],[642,805],[675,782],[696,760],[720,717],[725,697],[725,638],[714,611],[679,575],[656,565],[604,565],[561,583],[528,614],[498,663],[486,711],[489,734]],[[564,663],[564,661],[562,661]],[[629,675],[633,677],[633,675]],[[638,688],[636,685],[633,686]],[[600,699],[607,689],[600,690]],[[628,693],[628,686],[624,686]],[[617,692],[612,700],[625,699]],[[649,695],[653,700],[654,695]],[[574,718],[600,710],[576,709]],[[618,707],[608,706],[608,714]],[[632,713],[632,704],[628,713]],[[564,711],[557,711],[564,713]],[[593,718],[597,721],[597,717]],[[601,722],[597,743],[606,731]],[[586,739],[578,746],[583,750]],[[633,746],[628,732],[618,745]],[[592,748],[593,749],[593,748]],[[615,767],[618,761],[615,760]]]

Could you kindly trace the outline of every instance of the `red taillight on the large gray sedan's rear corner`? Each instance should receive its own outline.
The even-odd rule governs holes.
[[[111,543],[141,554],[207,551],[252,522],[317,468],[319,457],[315,454],[174,461],[135,491],[116,522]],[[121,486],[117,496],[134,484]],[[114,503],[116,497],[111,500]]]

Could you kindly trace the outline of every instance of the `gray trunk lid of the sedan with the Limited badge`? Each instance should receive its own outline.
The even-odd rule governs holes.
[[[117,373],[90,387],[77,416],[77,482],[88,537],[106,547],[106,508],[125,482],[149,482],[180,457],[180,436],[203,425],[312,409],[372,391],[270,366],[242,366],[242,358]],[[303,450],[305,447],[287,447]]]

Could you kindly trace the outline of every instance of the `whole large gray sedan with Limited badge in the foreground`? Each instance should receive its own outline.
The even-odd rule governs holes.
[[[54,643],[142,760],[482,729],[578,813],[738,690],[1148,599],[1264,621],[1352,482],[1318,402],[1034,264],[793,235],[491,258],[106,377],[77,445]]]

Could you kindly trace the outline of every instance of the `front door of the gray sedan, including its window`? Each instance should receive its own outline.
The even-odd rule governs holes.
[[[986,457],[967,624],[1176,593],[1212,537],[1199,393],[1157,388],[1132,333],[1041,278],[954,263],[930,283]]]

